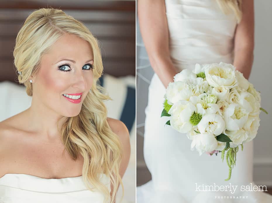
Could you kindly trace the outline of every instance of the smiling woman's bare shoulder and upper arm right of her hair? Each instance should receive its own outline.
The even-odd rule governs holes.
[[[123,157],[119,168],[119,174],[121,177],[123,177],[130,159],[130,135],[128,128],[122,121],[113,118],[107,118],[107,121],[111,127],[111,130],[119,136],[123,146]]]

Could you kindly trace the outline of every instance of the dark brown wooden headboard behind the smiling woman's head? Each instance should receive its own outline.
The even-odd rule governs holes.
[[[50,6],[84,22],[97,37],[104,73],[135,76],[135,1],[14,0],[0,2],[0,82],[18,81],[13,64],[18,31],[34,9]]]

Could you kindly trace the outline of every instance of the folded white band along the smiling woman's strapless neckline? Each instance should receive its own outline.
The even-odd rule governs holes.
[[[105,173],[98,173],[100,182],[110,188],[110,178]],[[20,190],[29,190],[34,192],[75,192],[88,190],[83,176],[66,178],[41,178],[30,174],[11,174],[7,173],[0,178],[1,187],[12,187]]]

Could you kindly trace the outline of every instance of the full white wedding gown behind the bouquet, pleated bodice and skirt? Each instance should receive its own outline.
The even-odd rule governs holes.
[[[194,69],[195,63],[233,64],[237,25],[234,13],[225,15],[216,0],[165,0],[165,4],[171,58],[180,71]],[[271,203],[272,196],[267,193],[243,191],[243,187],[255,185],[253,141],[245,143],[243,151],[239,148],[231,179],[224,181],[229,169],[222,162],[221,153],[199,156],[196,150],[190,150],[192,141],[186,134],[165,125],[169,118],[161,117],[164,94],[165,88],[154,74],[145,109],[144,132],[144,160],[152,180],[137,187],[137,203]],[[229,188],[199,191],[213,190],[206,185],[214,186],[214,190],[218,190],[216,185],[237,187],[235,191]]]

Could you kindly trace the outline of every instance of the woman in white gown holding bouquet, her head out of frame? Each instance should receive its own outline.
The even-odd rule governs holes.
[[[186,134],[165,127],[168,119],[161,118],[168,83],[181,70],[194,69],[196,63],[231,63],[249,78],[254,50],[253,0],[138,0],[137,8],[155,72],[144,133],[144,160],[152,180],[137,187],[137,203],[272,202],[263,192],[245,191],[247,185],[254,185],[252,141],[237,153],[238,162],[226,182],[228,166],[221,156],[199,156],[191,151]]]

